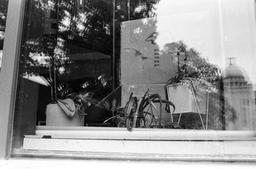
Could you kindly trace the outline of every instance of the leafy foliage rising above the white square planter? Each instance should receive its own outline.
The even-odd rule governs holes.
[[[175,44],[177,45],[177,44]],[[214,82],[220,82],[220,73],[218,68],[209,64],[205,59],[200,58],[198,52],[188,47],[180,41],[179,48],[175,48],[174,55],[177,61],[177,75],[168,80],[168,84],[182,83],[191,85],[194,91],[214,91]],[[183,59],[183,61],[181,61]],[[197,61],[196,61],[197,60]],[[180,64],[182,64],[180,66]]]

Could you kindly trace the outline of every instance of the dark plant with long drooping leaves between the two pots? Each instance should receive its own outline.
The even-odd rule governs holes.
[[[107,121],[112,120],[118,127],[126,127],[128,131],[132,128],[180,128],[179,125],[172,122],[162,121],[162,104],[166,104],[166,112],[171,113],[175,110],[175,105],[171,101],[161,99],[159,94],[150,94],[149,90],[145,95],[138,99],[132,96],[125,107],[115,107],[114,116]],[[156,104],[159,105],[157,109]]]

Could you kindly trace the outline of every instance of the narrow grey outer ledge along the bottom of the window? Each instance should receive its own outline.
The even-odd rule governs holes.
[[[243,162],[256,161],[256,155],[195,155],[195,154],[146,154],[116,152],[73,152],[73,151],[33,151],[14,149],[12,158],[56,158],[56,159],[96,159],[110,161],[188,161],[188,162]]]

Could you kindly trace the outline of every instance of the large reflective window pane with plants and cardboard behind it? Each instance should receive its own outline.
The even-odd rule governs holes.
[[[31,0],[15,147],[36,126],[253,130],[253,0]]]

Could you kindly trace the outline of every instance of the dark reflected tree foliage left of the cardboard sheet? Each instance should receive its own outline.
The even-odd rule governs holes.
[[[20,63],[20,115],[29,114],[31,101],[26,96],[37,107],[33,110],[37,112],[37,122],[44,121],[46,105],[56,103],[63,92],[90,92],[93,104],[105,98],[113,87],[118,86],[121,23],[129,18],[153,17],[154,4],[157,1],[131,1],[128,12],[128,1],[116,1],[114,25],[112,0],[28,1]],[[114,55],[115,63],[112,62]],[[26,76],[28,80],[24,78]],[[33,81],[33,77],[40,78],[40,82]],[[50,85],[42,84],[42,79]],[[28,85],[35,88],[33,95],[27,89]],[[31,109],[31,114],[33,112]],[[106,115],[95,117],[97,112],[88,108],[87,119],[92,117],[93,122],[103,122],[105,119],[100,118]]]

